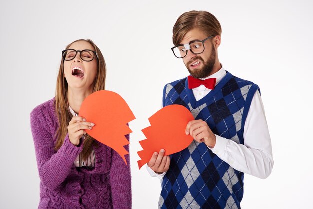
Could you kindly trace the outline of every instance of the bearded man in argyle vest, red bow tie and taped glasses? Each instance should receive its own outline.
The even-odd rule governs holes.
[[[227,72],[218,59],[221,26],[206,11],[183,13],[173,27],[172,48],[191,76],[165,85],[163,106],[180,104],[195,120],[194,141],[148,163],[163,177],[160,208],[240,208],[244,173],[265,179],[273,167],[271,140],[259,87]]]

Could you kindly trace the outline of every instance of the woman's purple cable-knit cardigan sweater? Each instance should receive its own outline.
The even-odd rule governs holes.
[[[54,102],[53,98],[30,114],[41,180],[39,208],[131,208],[129,155],[126,165],[116,151],[97,142],[94,169],[75,167],[83,145],[73,145],[67,134],[61,148],[54,150],[58,128]]]

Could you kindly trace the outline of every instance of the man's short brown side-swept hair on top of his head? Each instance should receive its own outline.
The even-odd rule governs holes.
[[[173,27],[173,43],[178,45],[184,35],[198,28],[207,36],[221,35],[221,26],[216,17],[207,11],[188,11],[178,17]]]

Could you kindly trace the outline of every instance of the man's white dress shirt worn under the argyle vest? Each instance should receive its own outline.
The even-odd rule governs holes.
[[[216,84],[226,75],[222,67],[216,73],[204,78],[216,78]],[[204,85],[192,89],[196,101],[206,96],[211,89]],[[234,169],[265,179],[274,165],[271,140],[265,117],[261,95],[257,90],[252,98],[251,106],[244,124],[244,144],[216,135],[216,144],[212,152]],[[147,170],[153,177],[161,179],[166,172],[156,174],[148,166]]]

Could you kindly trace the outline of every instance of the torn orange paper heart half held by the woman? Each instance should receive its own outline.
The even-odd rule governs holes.
[[[129,152],[124,146],[129,141],[125,135],[132,132],[127,123],[134,120],[135,116],[126,101],[115,92],[96,91],[82,102],[79,116],[95,124],[91,130],[85,131],[97,141],[114,149],[127,164],[124,155]]]

